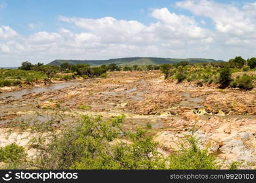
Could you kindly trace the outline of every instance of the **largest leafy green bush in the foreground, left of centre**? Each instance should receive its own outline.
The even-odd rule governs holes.
[[[145,131],[122,131],[124,116],[103,121],[83,116],[75,127],[50,138],[37,159],[40,168],[50,169],[152,169],[164,168],[157,143]],[[122,142],[127,139],[130,143]]]

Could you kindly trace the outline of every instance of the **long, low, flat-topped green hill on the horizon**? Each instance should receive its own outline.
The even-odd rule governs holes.
[[[126,57],[120,59],[109,59],[109,60],[53,60],[48,65],[61,65],[61,63],[72,63],[77,65],[78,63],[89,64],[91,66],[97,65],[108,65],[110,63],[116,63],[117,65],[158,65],[165,63],[178,63],[181,61],[187,61],[190,63],[207,63],[207,62],[224,62],[223,60],[214,59],[170,59],[170,58],[157,58],[157,57]]]

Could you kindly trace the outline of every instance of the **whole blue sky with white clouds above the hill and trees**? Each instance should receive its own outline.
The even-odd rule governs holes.
[[[0,66],[256,57],[256,0],[0,0]]]

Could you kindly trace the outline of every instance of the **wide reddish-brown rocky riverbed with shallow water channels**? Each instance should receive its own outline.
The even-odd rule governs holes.
[[[220,160],[256,168],[255,91],[176,84],[164,80],[160,71],[115,71],[105,79],[0,93],[0,146],[15,140],[26,146],[18,132],[17,138],[8,136],[13,123],[43,123],[55,115],[56,125],[61,125],[82,114],[111,118],[124,113],[127,129],[151,126],[167,154],[194,133],[201,148]]]

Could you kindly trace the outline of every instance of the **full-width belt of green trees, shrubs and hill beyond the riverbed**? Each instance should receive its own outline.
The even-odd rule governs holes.
[[[151,65],[134,64],[137,59],[154,60]],[[119,60],[119,61],[116,61]],[[165,79],[176,79],[178,83],[187,81],[195,82],[199,87],[203,85],[219,85],[220,88],[238,87],[244,90],[250,90],[254,87],[254,76],[243,76],[240,79],[232,79],[232,74],[236,72],[250,72],[254,70],[256,59],[244,60],[242,57],[235,57],[228,62],[220,62],[216,60],[206,59],[162,59],[154,57],[134,57],[124,58],[125,62],[133,63],[133,65],[122,65],[120,59],[95,60],[94,65],[90,66],[90,61],[78,62],[81,60],[55,60],[59,64],[43,65],[37,63],[32,65],[29,62],[23,62],[20,70],[1,70],[0,72],[0,87],[20,84],[33,84],[34,82],[44,79],[50,82],[51,79],[59,79],[68,81],[80,77],[89,79],[93,77],[107,77],[107,71],[142,71],[142,70],[160,70],[165,74]],[[164,61],[165,60],[165,61]],[[171,64],[165,62],[170,61]],[[104,61],[104,62],[103,62]],[[116,61],[116,63],[113,63]],[[211,62],[210,62],[211,61]],[[81,64],[87,63],[88,64]],[[105,65],[102,63],[109,63]],[[147,62],[148,63],[148,62]],[[165,63],[155,65],[156,63]],[[59,65],[59,66],[57,66]],[[91,64],[92,65],[92,64]],[[7,71],[7,72],[6,72]],[[4,73],[4,74],[2,74]],[[9,77],[6,73],[12,73]],[[15,76],[15,77],[14,77]],[[24,77],[23,77],[24,76]],[[244,81],[242,81],[244,80]]]

